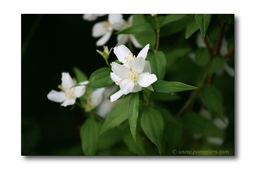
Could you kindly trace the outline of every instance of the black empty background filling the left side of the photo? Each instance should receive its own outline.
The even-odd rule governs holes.
[[[22,154],[83,154],[79,127],[84,116],[79,108],[60,108],[59,103],[47,99],[47,94],[58,90],[62,72],[75,76],[74,66],[87,76],[106,66],[96,52],[103,51],[95,45],[99,38],[91,36],[93,25],[106,19],[89,22],[82,14],[22,14]],[[107,44],[114,47],[116,35]],[[109,61],[115,59],[112,52]]]

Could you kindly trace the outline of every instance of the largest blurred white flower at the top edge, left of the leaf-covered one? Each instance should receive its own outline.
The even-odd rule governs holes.
[[[108,21],[98,22],[93,26],[94,38],[101,37],[97,42],[97,46],[103,46],[110,39],[114,30],[122,30],[125,26],[125,20],[122,14],[109,14]]]

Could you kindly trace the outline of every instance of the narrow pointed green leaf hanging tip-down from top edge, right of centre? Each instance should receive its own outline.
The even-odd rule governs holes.
[[[212,19],[212,14],[195,14],[194,19],[195,19],[197,25],[199,26],[202,37],[204,39],[204,37],[206,35],[207,28]]]

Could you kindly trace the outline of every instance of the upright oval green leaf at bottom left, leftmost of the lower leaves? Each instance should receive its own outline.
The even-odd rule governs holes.
[[[99,130],[94,117],[88,118],[80,129],[80,138],[84,155],[96,155]]]

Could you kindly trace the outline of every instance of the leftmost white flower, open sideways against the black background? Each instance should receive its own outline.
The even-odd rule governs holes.
[[[75,84],[76,81],[71,78],[68,72],[62,72],[62,84],[58,86],[62,91],[58,92],[56,90],[52,90],[47,95],[47,98],[53,102],[62,103],[62,106],[64,107],[73,105],[75,103],[75,99],[84,94],[85,85],[88,84],[88,81],[79,83],[80,86],[72,87]]]

